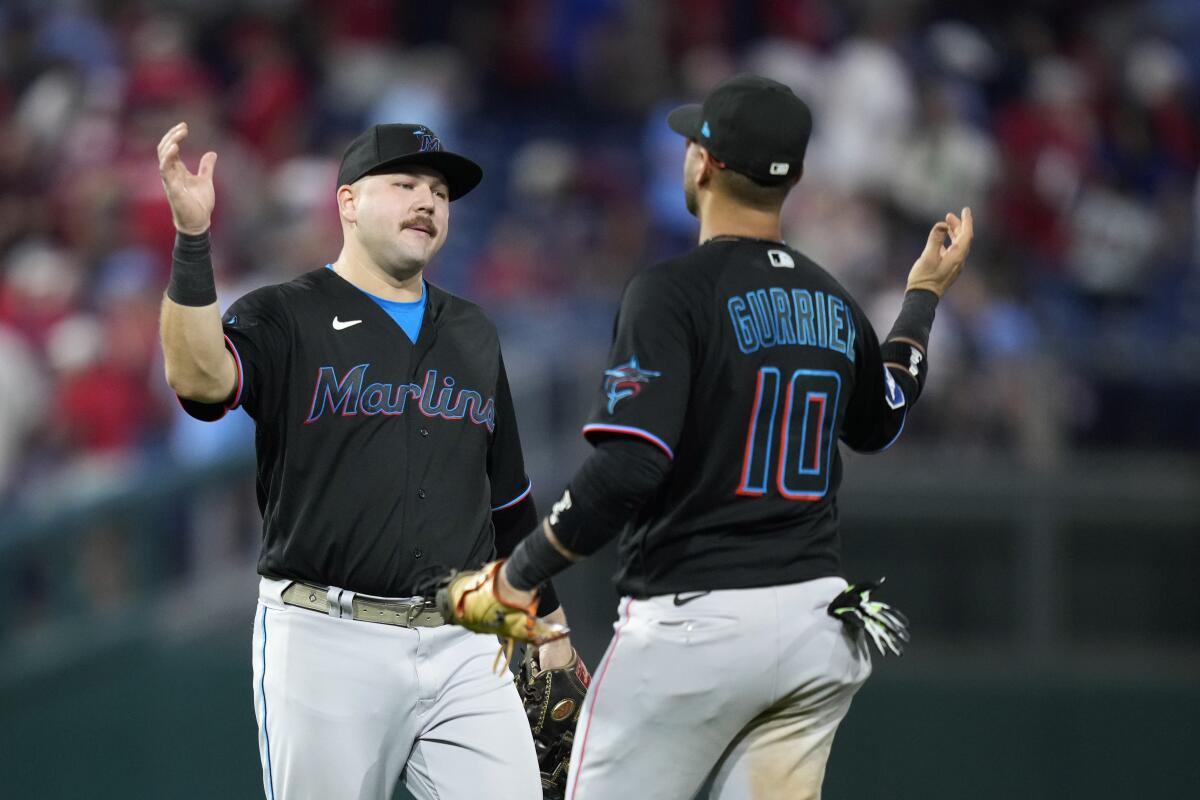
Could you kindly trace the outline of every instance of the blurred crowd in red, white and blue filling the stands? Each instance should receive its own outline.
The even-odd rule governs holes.
[[[332,260],[346,143],[419,121],[485,167],[428,277],[590,387],[624,282],[695,242],[672,104],[739,71],[814,109],[785,235],[884,332],[971,205],[910,435],[958,455],[1200,446],[1200,4],[4,0],[0,505],[252,446],[162,379],[155,145],[216,150],[223,303]],[[547,413],[539,437],[581,420]]]

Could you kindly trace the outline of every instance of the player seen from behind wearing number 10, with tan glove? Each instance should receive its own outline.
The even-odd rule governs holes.
[[[818,798],[834,733],[902,615],[840,577],[838,441],[887,449],[920,395],[934,311],[972,239],[934,225],[881,345],[858,303],[785,243],[808,107],[733,78],[668,125],[688,140],[700,246],[629,283],[583,432],[595,446],[503,564],[445,613],[516,627],[536,587],[622,531],[614,634],[584,703],[566,798]],[[949,237],[949,245],[946,240]],[[533,625],[535,620],[527,620]]]

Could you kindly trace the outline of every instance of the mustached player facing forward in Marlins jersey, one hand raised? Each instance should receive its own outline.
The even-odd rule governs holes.
[[[445,625],[431,575],[511,551],[536,522],[496,327],[424,277],[482,170],[419,125],[350,143],[332,264],[222,318],[209,255],[216,154],[158,145],[178,237],[167,380],[193,416],[256,421],[262,575],[254,712],[270,800],[541,798],[496,639]],[[547,597],[548,595],[548,597]],[[541,609],[565,618],[544,589]],[[560,632],[560,627],[556,627]],[[542,668],[586,670],[565,639]]]

